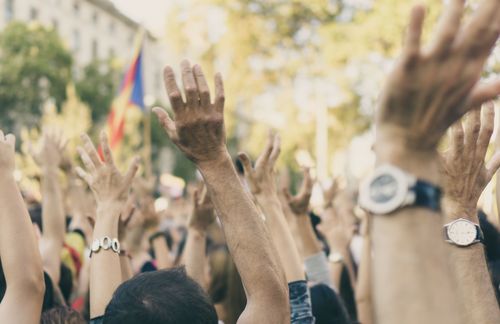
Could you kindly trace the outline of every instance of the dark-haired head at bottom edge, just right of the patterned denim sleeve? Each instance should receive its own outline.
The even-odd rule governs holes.
[[[342,298],[325,284],[311,287],[311,304],[316,324],[352,323]]]

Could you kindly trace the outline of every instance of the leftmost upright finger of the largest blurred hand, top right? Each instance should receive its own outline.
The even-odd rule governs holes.
[[[403,51],[403,61],[408,66],[413,66],[420,56],[420,42],[424,19],[425,8],[421,5],[414,6],[410,15],[410,24]]]

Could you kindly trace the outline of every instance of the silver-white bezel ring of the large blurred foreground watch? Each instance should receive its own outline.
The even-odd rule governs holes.
[[[371,199],[370,187],[375,179],[383,175],[393,177],[398,188],[392,199],[387,202],[379,203]],[[359,190],[359,205],[373,214],[389,214],[400,207],[410,205],[415,202],[415,192],[410,191],[410,188],[414,186],[416,182],[417,179],[414,176],[405,173],[403,170],[395,166],[389,164],[381,165],[361,184]]]

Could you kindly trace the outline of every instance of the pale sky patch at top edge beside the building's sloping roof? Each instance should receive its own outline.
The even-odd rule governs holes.
[[[179,0],[111,0],[115,6],[124,14],[142,23],[156,36],[164,33],[165,17],[172,3]]]

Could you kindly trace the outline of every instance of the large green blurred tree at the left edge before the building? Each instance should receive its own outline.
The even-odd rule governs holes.
[[[59,106],[71,79],[71,54],[53,29],[14,22],[0,34],[1,127],[34,125],[43,103]]]

